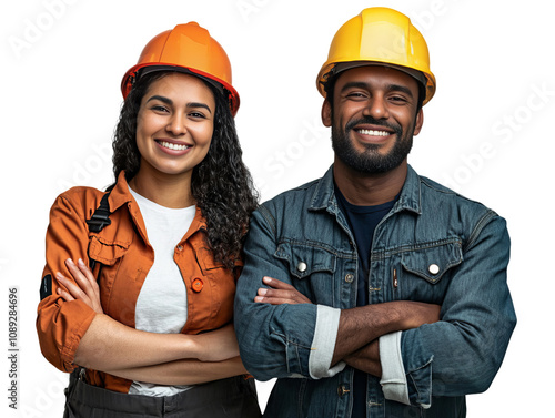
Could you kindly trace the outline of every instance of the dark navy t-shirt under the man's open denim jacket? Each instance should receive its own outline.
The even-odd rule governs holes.
[[[349,227],[359,252],[359,277],[356,277],[356,306],[369,304],[369,277],[370,277],[370,254],[374,230],[383,217],[393,208],[398,195],[391,202],[375,206],[357,206],[347,202],[337,185],[335,185],[337,204],[346,217]],[[354,371],[353,379],[353,418],[366,417],[366,374],[360,370]]]

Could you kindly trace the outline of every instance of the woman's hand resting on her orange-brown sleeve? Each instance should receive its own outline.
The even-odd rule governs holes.
[[[65,265],[74,282],[58,272],[56,279],[65,288],[64,290],[62,287],[59,287],[58,295],[63,297],[65,302],[83,300],[97,314],[103,314],[99,285],[90,268],[84,265],[82,259],[79,259],[75,265],[71,258],[68,258]]]

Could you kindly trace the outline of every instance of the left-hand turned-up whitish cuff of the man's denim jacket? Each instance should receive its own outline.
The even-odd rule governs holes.
[[[313,379],[332,377],[345,368],[343,361],[331,367],[340,327],[341,309],[317,305],[316,326],[309,357],[309,373]]]

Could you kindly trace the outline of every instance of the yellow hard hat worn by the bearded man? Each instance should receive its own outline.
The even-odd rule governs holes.
[[[317,90],[325,98],[324,84],[331,75],[369,64],[393,67],[416,78],[426,91],[423,104],[435,93],[426,41],[411,20],[396,10],[364,9],[340,28],[317,74]]]

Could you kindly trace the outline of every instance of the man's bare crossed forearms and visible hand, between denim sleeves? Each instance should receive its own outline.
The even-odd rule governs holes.
[[[256,303],[271,305],[311,304],[295,287],[271,277],[259,288]],[[379,338],[397,330],[417,328],[440,320],[440,305],[398,300],[343,309],[340,316],[332,364],[343,360],[367,374],[381,377]]]

